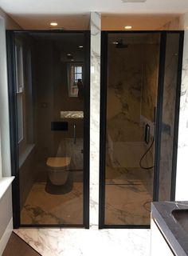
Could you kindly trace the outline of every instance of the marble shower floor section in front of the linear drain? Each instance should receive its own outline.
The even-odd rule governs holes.
[[[143,184],[107,185],[105,224],[150,225],[151,195]]]

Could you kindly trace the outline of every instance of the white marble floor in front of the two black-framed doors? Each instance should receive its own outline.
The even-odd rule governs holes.
[[[150,230],[19,229],[19,237],[42,256],[149,256]]]

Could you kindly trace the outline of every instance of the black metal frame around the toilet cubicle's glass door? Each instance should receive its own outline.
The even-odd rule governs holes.
[[[20,220],[20,190],[19,190],[19,163],[18,163],[18,118],[16,99],[16,74],[14,35],[16,33],[27,34],[34,32],[38,34],[84,34],[85,40],[85,90],[84,90],[84,180],[83,180],[83,225],[61,224],[61,225],[23,225]],[[14,228],[19,227],[84,227],[89,228],[89,141],[90,141],[90,31],[88,30],[6,30],[6,48],[9,84],[9,106],[10,106],[10,149],[11,169],[15,177],[12,186],[13,196],[13,220]]]

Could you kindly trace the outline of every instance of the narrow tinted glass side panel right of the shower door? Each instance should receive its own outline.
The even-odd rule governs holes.
[[[177,92],[179,34],[166,36],[166,61],[163,89],[163,126],[159,175],[159,201],[170,201],[174,143],[174,114]]]

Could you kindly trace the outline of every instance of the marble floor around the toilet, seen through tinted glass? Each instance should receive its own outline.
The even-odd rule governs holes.
[[[22,208],[22,224],[82,224],[82,182],[74,182],[65,194],[49,194],[45,188],[46,182],[33,184]]]

